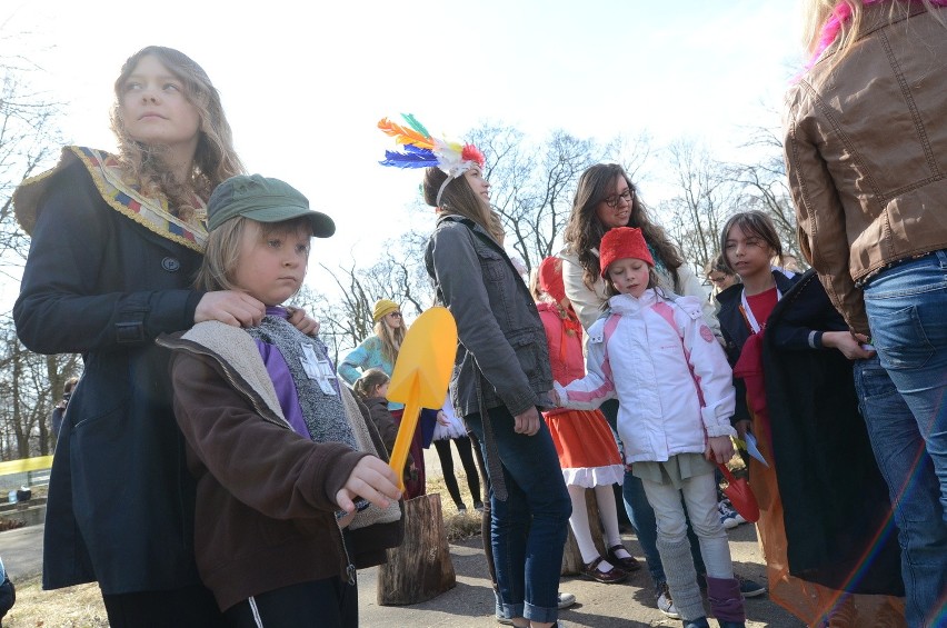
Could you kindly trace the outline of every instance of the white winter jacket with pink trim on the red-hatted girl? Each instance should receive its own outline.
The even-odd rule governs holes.
[[[626,462],[702,453],[707,436],[736,436],[736,393],[727,357],[694,297],[618,295],[588,332],[588,375],[567,387],[562,405],[592,409],[617,397]],[[672,323],[672,325],[671,325]],[[691,375],[692,370],[692,375]],[[702,403],[701,403],[702,398]]]

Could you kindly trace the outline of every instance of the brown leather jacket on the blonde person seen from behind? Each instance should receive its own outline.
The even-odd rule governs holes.
[[[858,281],[947,248],[947,9],[865,11],[848,54],[829,50],[789,90],[784,127],[803,252],[868,333]]]

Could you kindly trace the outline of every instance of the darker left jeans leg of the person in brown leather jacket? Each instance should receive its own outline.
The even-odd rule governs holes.
[[[855,390],[878,469],[894,507],[908,626],[927,626],[944,612],[947,590],[947,525],[940,488],[917,421],[878,357],[855,361]],[[939,610],[938,610],[939,609]]]

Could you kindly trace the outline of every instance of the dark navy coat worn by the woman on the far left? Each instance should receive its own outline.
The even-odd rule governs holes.
[[[68,161],[31,183],[41,195],[31,191],[30,208],[14,197],[18,216],[37,215],[17,333],[33,351],[80,352],[84,362],[52,466],[43,588],[190,586],[200,581],[195,480],[171,409],[169,353],[153,339],[193,325],[203,293],[188,287],[201,255],[117,211]]]

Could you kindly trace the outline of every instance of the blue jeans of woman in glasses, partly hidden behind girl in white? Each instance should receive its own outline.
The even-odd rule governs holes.
[[[624,451],[621,439],[618,438],[618,401],[609,399],[599,409],[605,415],[606,420],[608,420],[608,425],[611,426],[611,432],[618,442],[618,448]],[[651,508],[648,497],[645,495],[645,487],[641,485],[641,479],[636,478],[631,471],[625,471],[625,480],[621,484],[621,497],[625,500],[625,511],[628,514],[628,520],[631,521],[631,526],[638,535],[638,542],[645,552],[648,572],[651,575],[655,588],[658,589],[667,582],[661,556],[658,554],[658,524],[655,519],[655,509]],[[687,524],[687,539],[690,541],[690,555],[694,557],[694,566],[698,574],[705,574],[707,568],[704,566],[704,557],[700,555],[700,544],[690,527],[690,519],[688,519]]]

